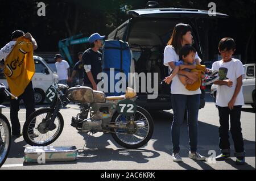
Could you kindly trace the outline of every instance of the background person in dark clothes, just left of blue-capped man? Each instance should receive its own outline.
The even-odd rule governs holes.
[[[78,73],[79,74],[78,85],[80,85],[80,86],[82,86],[82,84],[84,83],[84,81],[82,79],[83,73],[84,73],[84,65],[82,64],[82,54],[83,54],[82,52],[77,53],[79,61],[77,61],[77,63],[73,67],[71,78],[68,80],[69,82],[72,82],[73,79],[75,78],[76,74]]]

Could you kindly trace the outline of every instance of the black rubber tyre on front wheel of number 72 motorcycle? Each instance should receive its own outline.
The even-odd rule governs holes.
[[[61,132],[63,131],[63,127],[64,127],[64,120],[63,120],[63,116],[61,115],[60,112],[57,112],[57,117],[59,118],[60,120],[60,130],[59,132],[57,133],[57,135],[55,136],[55,138],[53,138],[51,141],[48,141],[44,144],[38,144],[38,143],[35,143],[35,142],[32,142],[30,140],[30,138],[28,137],[28,127],[31,123],[32,120],[34,120],[35,117],[37,117],[38,115],[41,115],[43,113],[53,113],[53,109],[51,108],[44,108],[44,109],[41,109],[41,110],[38,110],[38,111],[35,111],[33,112],[27,119],[27,121],[25,122],[24,126],[23,126],[23,130],[22,130],[22,133],[23,133],[23,138],[24,138],[24,141],[27,142],[28,145],[31,145],[31,146],[48,146],[50,144],[52,144],[54,141],[57,140],[57,138],[59,138]]]

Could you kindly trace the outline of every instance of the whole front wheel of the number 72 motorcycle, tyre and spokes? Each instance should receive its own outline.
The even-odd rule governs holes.
[[[47,123],[51,120],[53,111],[50,108],[35,111],[28,117],[23,126],[23,138],[31,146],[47,146],[59,138],[64,127],[63,116],[57,112],[54,120],[55,129],[49,130]]]

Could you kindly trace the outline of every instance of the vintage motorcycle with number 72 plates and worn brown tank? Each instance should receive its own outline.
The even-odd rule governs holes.
[[[121,101],[134,103],[137,99],[136,92],[129,87],[125,95],[106,97],[104,92],[93,91],[90,87],[68,89],[67,85],[53,83],[46,98],[52,102],[51,107],[32,113],[23,126],[24,140],[32,146],[47,146],[60,136],[64,121],[59,110],[69,102],[81,104],[80,113],[72,117],[72,127],[84,133],[111,133],[125,148],[135,149],[147,144],[154,130],[150,113],[142,107],[135,105],[135,112],[128,116],[118,111]]]

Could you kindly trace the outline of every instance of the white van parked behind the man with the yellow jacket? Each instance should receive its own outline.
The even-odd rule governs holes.
[[[43,60],[42,57],[34,56],[35,61],[35,75],[32,78],[33,87],[35,90],[35,103],[41,104],[46,98],[46,90],[54,82],[58,82],[58,75],[51,67]],[[0,74],[0,83],[8,86],[6,78]]]

